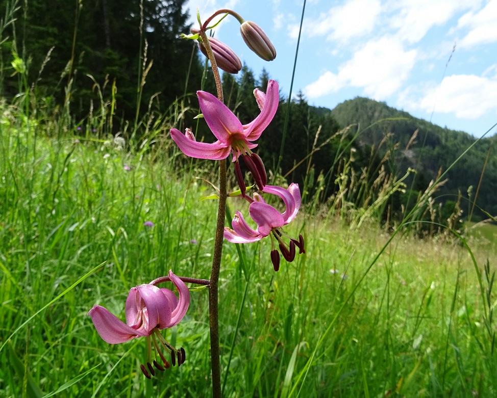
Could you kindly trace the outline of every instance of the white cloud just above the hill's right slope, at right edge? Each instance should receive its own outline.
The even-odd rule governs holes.
[[[458,74],[445,77],[439,88],[431,85],[417,100],[415,91],[408,88],[400,102],[415,110],[454,113],[461,119],[478,119],[489,112],[497,114],[497,78]]]

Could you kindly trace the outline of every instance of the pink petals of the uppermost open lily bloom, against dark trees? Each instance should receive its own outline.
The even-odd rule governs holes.
[[[191,157],[199,159],[221,160],[233,153],[233,162],[241,154],[251,154],[256,141],[262,131],[274,118],[280,101],[278,83],[270,80],[267,83],[266,94],[254,92],[261,113],[250,123],[241,124],[238,118],[214,95],[205,91],[198,91],[197,97],[204,119],[217,141],[209,144],[195,141],[191,130],[185,134],[180,130],[171,128],[171,138],[176,142],[181,151]]]

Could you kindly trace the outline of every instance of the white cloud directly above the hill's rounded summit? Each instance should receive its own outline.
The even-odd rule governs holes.
[[[416,56],[416,50],[404,50],[394,37],[372,40],[340,65],[337,74],[325,72],[304,93],[317,98],[348,86],[362,88],[365,95],[382,100],[401,88]]]

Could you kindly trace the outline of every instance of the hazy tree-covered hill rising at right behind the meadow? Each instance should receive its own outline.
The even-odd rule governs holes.
[[[440,168],[442,172],[448,169],[459,155],[477,141],[475,137],[464,131],[437,126],[426,120],[414,118],[407,112],[388,107],[384,102],[368,98],[356,97],[344,101],[331,113],[342,127],[357,124],[361,131],[358,140],[362,144],[378,147],[385,136],[390,134],[391,136],[387,137],[386,142],[380,147],[380,153],[399,143],[395,156],[398,172],[403,173],[407,167],[416,169],[418,171],[416,179],[420,185],[418,189],[424,189],[424,186],[436,177]],[[416,130],[417,136],[406,150]],[[447,174],[449,180],[438,194],[455,195],[460,191],[467,197],[467,190],[472,186],[474,198],[488,155],[476,203],[490,214],[497,215],[495,140],[495,137],[490,137],[476,142],[475,146],[449,170]]]

